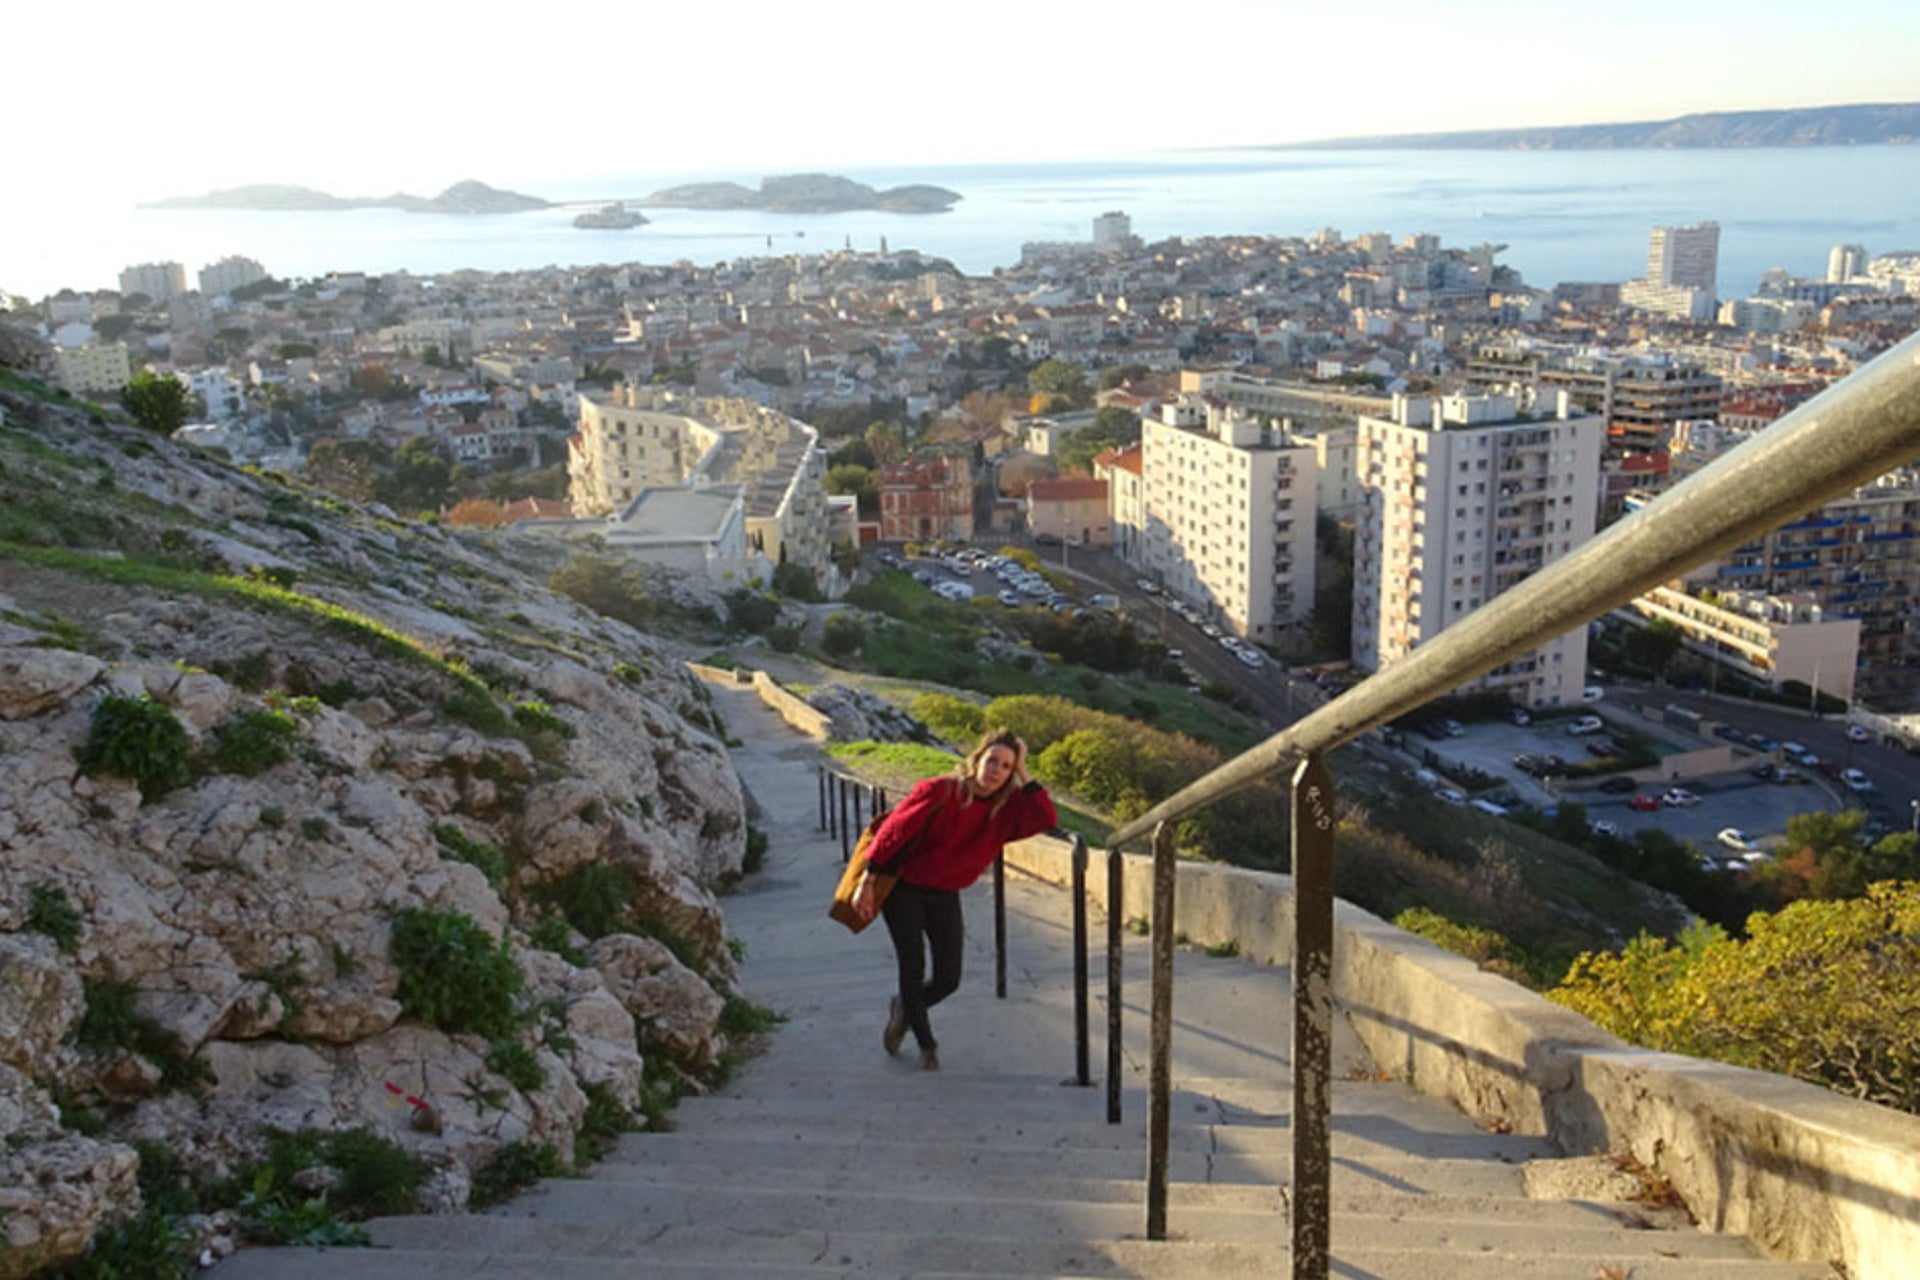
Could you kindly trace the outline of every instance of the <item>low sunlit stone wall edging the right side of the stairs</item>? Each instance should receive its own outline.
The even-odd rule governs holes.
[[[1071,846],[1010,844],[1010,867],[1071,883]],[[1123,913],[1146,915],[1152,860],[1123,856]],[[1089,898],[1106,910],[1106,854]],[[1179,864],[1173,927],[1194,944],[1292,958],[1292,879]],[[1770,1257],[1903,1280],[1920,1257],[1920,1117],[1720,1063],[1636,1050],[1473,961],[1338,902],[1332,984],[1375,1063],[1467,1115],[1544,1134],[1567,1155],[1630,1153],[1667,1176],[1705,1230]]]

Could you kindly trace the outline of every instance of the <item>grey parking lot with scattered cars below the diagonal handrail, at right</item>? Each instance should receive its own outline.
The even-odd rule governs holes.
[[[1582,710],[1599,714],[1609,725],[1653,737],[1665,745],[1661,750],[1695,750],[1703,747],[1701,739],[1657,725],[1630,708],[1599,702]],[[1492,773],[1507,783],[1524,804],[1551,806],[1559,800],[1578,800],[1586,808],[1588,819],[1611,821],[1624,837],[1657,827],[1676,839],[1692,841],[1703,852],[1716,848],[1715,837],[1724,827],[1738,827],[1753,842],[1764,846],[1786,833],[1788,819],[1795,814],[1847,808],[1851,804],[1851,796],[1845,796],[1824,777],[1812,777],[1803,785],[1759,781],[1747,773],[1747,768],[1770,756],[1745,748],[1734,752],[1734,770],[1728,773],[1686,777],[1676,783],[1672,777],[1655,777],[1655,770],[1638,771],[1636,777],[1642,779],[1638,791],[1642,794],[1659,796],[1668,787],[1680,785],[1699,796],[1699,804],[1684,808],[1663,804],[1657,810],[1636,810],[1632,806],[1634,793],[1607,794],[1599,791],[1597,777],[1580,779],[1572,785],[1559,779],[1542,781],[1513,764],[1513,758],[1521,754],[1557,754],[1572,764],[1588,762],[1590,756],[1584,748],[1588,739],[1571,737],[1567,733],[1569,723],[1571,720],[1565,718],[1542,720],[1530,725],[1480,722],[1463,725],[1465,733],[1461,737],[1440,741],[1409,733],[1405,737],[1405,750],[1415,756],[1432,752],[1442,762],[1463,764]]]

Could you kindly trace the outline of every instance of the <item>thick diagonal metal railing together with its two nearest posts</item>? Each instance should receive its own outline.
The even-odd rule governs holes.
[[[1321,758],[1367,729],[1430,702],[1469,679],[1584,626],[1686,570],[1920,457],[1920,334],[1880,355],[1764,432],[1716,459],[1634,516],[1421,645],[1258,747],[1181,789],[1108,839],[1117,850],[1154,839],[1156,938],[1173,929],[1171,827],[1175,819],[1294,768],[1294,1280],[1325,1280],[1329,1267],[1332,841],[1331,775]],[[1160,864],[1165,862],[1165,890]],[[1156,1023],[1171,1017],[1171,952],[1156,948]],[[1154,1036],[1150,1088],[1169,1073]],[[1152,1125],[1164,1100],[1150,1105]],[[1164,1163],[1148,1167],[1148,1236],[1165,1238]]]

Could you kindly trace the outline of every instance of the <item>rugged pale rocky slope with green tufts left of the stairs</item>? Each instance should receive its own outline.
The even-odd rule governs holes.
[[[106,543],[0,564],[0,1280],[129,1213],[138,1142],[211,1182],[371,1128],[461,1207],[503,1144],[572,1159],[589,1094],[637,1113],[649,1055],[718,1059],[745,802],[651,637],[165,441],[12,439],[0,501]],[[432,1015],[409,913],[511,958],[511,1019]]]

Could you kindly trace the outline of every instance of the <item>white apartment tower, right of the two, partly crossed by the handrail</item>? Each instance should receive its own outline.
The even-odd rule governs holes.
[[[1405,658],[1594,535],[1605,422],[1571,397],[1526,413],[1511,395],[1394,397],[1359,420],[1365,493],[1354,530],[1354,662]],[[1486,674],[1524,706],[1576,702],[1586,629]]]

